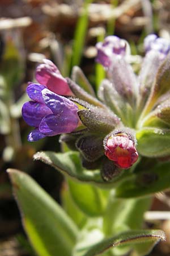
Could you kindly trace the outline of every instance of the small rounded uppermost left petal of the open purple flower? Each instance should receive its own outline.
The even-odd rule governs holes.
[[[37,102],[44,104],[44,100],[43,100],[42,94],[41,94],[41,91],[44,88],[46,88],[45,85],[29,84],[27,87],[27,93],[28,93],[29,98],[31,98],[31,100],[33,100],[33,101],[37,101]]]

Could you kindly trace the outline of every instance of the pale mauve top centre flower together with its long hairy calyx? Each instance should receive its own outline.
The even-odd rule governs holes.
[[[96,44],[96,48],[96,61],[108,69],[110,80],[117,92],[133,104],[137,79],[131,65],[126,61],[126,56],[130,53],[129,44],[117,36],[107,36],[103,43]]]

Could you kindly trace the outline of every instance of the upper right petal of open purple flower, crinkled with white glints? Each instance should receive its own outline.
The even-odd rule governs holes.
[[[59,96],[48,89],[42,90],[42,97],[46,106],[52,110],[53,114],[57,115],[62,113],[69,115],[74,113],[77,115],[78,107],[69,99]]]

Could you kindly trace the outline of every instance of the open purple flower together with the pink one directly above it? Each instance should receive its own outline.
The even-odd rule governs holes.
[[[37,67],[36,72],[37,81],[41,84],[28,85],[27,93],[31,101],[26,102],[22,108],[25,122],[35,127],[35,130],[29,133],[28,141],[71,133],[79,122],[78,107],[74,102],[56,94],[71,92],[67,81],[52,61],[44,60],[44,63]]]

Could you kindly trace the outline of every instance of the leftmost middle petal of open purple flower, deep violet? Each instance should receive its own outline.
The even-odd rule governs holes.
[[[41,119],[51,113],[52,111],[46,105],[35,101],[25,102],[22,108],[24,121],[33,127],[38,127]]]

